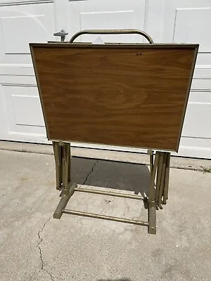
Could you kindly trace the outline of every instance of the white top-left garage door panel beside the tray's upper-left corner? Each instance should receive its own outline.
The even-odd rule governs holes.
[[[29,42],[53,40],[53,1],[0,4],[0,63],[32,63]],[[1,65],[0,65],[1,66]]]

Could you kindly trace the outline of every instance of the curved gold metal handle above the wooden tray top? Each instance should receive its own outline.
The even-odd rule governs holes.
[[[73,41],[79,37],[82,34],[140,34],[143,37],[145,37],[150,44],[153,44],[153,39],[146,33],[141,30],[82,30],[77,33],[75,33],[70,38],[70,43],[73,43]]]

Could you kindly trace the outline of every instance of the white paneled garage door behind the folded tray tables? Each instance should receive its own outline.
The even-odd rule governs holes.
[[[59,40],[53,33],[61,29],[69,32],[68,40],[84,29],[136,28],[148,32],[155,42],[200,44],[179,155],[211,158],[210,26],[210,0],[0,0],[0,139],[48,143],[29,42]],[[95,38],[87,35],[78,41]],[[143,41],[139,35],[102,38]]]

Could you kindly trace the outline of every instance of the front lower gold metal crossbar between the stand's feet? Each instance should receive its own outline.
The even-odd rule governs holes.
[[[132,224],[137,224],[140,226],[148,226],[147,221],[137,221],[137,220],[133,220],[130,218],[118,218],[116,216],[104,216],[104,215],[100,215],[100,214],[92,214],[92,213],[88,213],[88,212],[84,212],[84,211],[74,211],[74,210],[69,210],[69,209],[64,209],[63,213],[78,215],[78,216],[87,216],[89,218],[101,218],[101,219],[105,219],[108,221],[119,221],[120,223],[132,223]]]

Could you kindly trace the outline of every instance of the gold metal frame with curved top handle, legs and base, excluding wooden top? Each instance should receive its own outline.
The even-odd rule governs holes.
[[[153,40],[145,32],[139,30],[89,30],[77,32],[71,39],[72,43],[79,35],[82,34],[141,34],[148,39],[150,44]],[[161,204],[166,204],[168,197],[168,185],[170,174],[170,152],[155,152],[148,150],[150,156],[151,185],[149,187],[148,196],[128,195],[120,192],[108,192],[101,190],[93,190],[89,188],[78,188],[77,183],[71,181],[71,155],[70,143],[63,141],[53,141],[53,152],[56,164],[56,189],[61,190],[60,202],[53,214],[53,218],[60,218],[62,214],[73,214],[78,216],[87,216],[89,218],[101,218],[110,221],[118,221],[122,223],[132,223],[140,226],[147,226],[148,233],[156,234],[156,209],[162,209]],[[156,184],[155,184],[156,181]],[[110,195],[115,197],[124,197],[134,200],[143,200],[148,203],[148,221],[138,221],[129,218],[120,218],[115,216],[104,216],[101,214],[92,214],[84,211],[75,211],[65,209],[70,197],[74,192],[89,192],[93,194]]]

